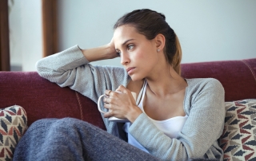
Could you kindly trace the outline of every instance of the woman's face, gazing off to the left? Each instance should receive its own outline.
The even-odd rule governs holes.
[[[158,63],[157,45],[138,33],[134,26],[119,26],[114,30],[114,46],[121,57],[121,64],[133,81],[150,77]]]

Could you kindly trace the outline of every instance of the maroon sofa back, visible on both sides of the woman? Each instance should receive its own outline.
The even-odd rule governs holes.
[[[256,58],[182,64],[182,77],[218,79],[226,101],[256,98]],[[74,117],[106,129],[92,100],[36,72],[0,72],[0,108],[14,104],[25,108],[28,125],[42,118]]]

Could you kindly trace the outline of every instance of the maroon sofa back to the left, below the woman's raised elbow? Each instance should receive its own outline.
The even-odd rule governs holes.
[[[73,117],[105,128],[96,104],[70,88],[60,88],[36,72],[0,73],[0,108],[25,108],[28,126],[43,118]]]

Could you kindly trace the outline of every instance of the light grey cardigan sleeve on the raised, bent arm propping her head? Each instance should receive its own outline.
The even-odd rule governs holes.
[[[61,87],[70,87],[97,102],[106,89],[115,90],[129,81],[124,69],[90,65],[78,45],[38,61],[38,74]]]

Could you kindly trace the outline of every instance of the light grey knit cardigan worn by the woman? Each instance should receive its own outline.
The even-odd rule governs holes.
[[[38,74],[61,87],[70,87],[97,103],[106,89],[127,86],[130,76],[125,69],[90,65],[78,45],[45,57],[36,64]],[[218,138],[222,135],[225,105],[222,84],[213,78],[186,79],[183,108],[188,116],[177,138],[171,139],[142,113],[129,132],[150,152],[163,160],[223,158]],[[122,127],[102,116],[107,132],[121,138]]]

